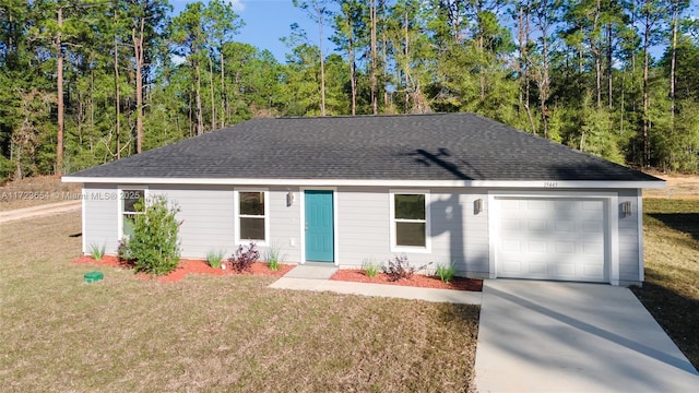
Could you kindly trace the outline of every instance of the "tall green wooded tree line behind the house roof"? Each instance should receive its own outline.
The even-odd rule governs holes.
[[[699,170],[689,0],[293,0],[285,62],[229,2],[5,0],[0,177],[66,174],[258,116],[473,111]],[[335,48],[328,48],[330,37]],[[655,55],[655,56],[653,56]]]

